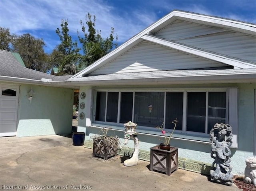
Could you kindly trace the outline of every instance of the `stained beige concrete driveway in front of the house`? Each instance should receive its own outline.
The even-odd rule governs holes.
[[[0,138],[1,190],[238,191],[208,177],[178,169],[168,176],[149,170],[148,161],[126,167],[122,156],[93,158],[64,136]]]

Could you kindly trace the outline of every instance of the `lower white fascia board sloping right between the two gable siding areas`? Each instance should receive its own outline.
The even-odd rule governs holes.
[[[178,51],[182,51],[184,53],[196,55],[198,57],[202,57],[202,58],[205,58],[205,59],[210,59],[210,60],[213,60],[213,61],[221,62],[221,63],[227,64],[227,65],[234,66],[236,68],[240,68],[240,69],[256,68],[256,65],[252,64],[252,63],[232,59],[230,57],[226,57],[224,55],[218,55],[216,53],[211,53],[211,52],[208,52],[208,51],[203,51],[201,49],[196,49],[196,48],[193,48],[193,47],[181,44],[181,43],[168,41],[166,39],[162,39],[162,38],[155,37],[155,36],[152,36],[152,35],[144,35],[141,38],[146,40],[146,41],[156,43],[158,45],[162,45],[162,46],[165,46],[165,47],[168,47],[168,48],[171,48],[171,49],[176,49]]]

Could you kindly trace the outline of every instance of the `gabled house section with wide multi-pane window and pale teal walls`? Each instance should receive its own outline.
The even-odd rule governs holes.
[[[256,25],[174,10],[68,79],[80,86],[78,131],[86,136],[138,124],[140,149],[163,138],[179,157],[212,163],[209,132],[232,126],[231,165],[242,174],[256,156]]]

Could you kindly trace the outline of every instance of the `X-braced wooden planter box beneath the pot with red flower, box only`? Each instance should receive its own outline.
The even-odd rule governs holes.
[[[158,148],[159,145],[150,148],[150,171],[156,170],[171,175],[178,169],[178,148],[171,147],[170,151]]]

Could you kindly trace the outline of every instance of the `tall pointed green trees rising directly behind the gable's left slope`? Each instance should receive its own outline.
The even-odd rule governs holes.
[[[61,43],[56,47],[54,51],[58,51],[59,57],[59,75],[74,75],[78,71],[84,69],[88,65],[92,64],[102,56],[109,53],[113,47],[117,46],[114,41],[114,28],[111,28],[109,37],[102,38],[101,31],[96,32],[95,29],[96,16],[92,16],[90,13],[86,15],[86,25],[88,26],[88,33],[86,27],[80,20],[82,27],[82,33],[84,37],[80,37],[78,33],[78,39],[81,48],[78,47],[77,41],[72,41],[72,37],[69,35],[68,21],[62,20],[60,26],[61,29],[57,28],[56,34],[60,37]],[[116,36],[117,40],[117,36]],[[80,50],[82,49],[82,54]],[[52,52],[53,54],[54,52]]]

